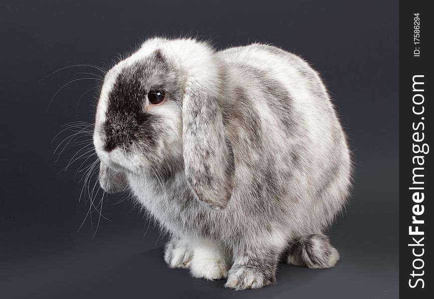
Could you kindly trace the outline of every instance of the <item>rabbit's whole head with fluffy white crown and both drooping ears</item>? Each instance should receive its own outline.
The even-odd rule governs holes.
[[[223,78],[215,50],[193,39],[150,39],[110,69],[93,137],[101,186],[120,191],[122,176],[181,172],[200,201],[226,206],[233,158],[219,106]]]

